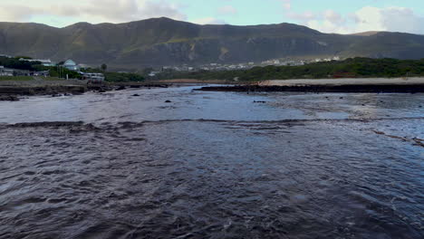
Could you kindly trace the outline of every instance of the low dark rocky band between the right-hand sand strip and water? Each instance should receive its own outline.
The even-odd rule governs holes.
[[[234,92],[332,92],[332,93],[422,93],[424,84],[350,84],[350,85],[236,85],[236,86],[209,86],[195,91],[234,91]]]

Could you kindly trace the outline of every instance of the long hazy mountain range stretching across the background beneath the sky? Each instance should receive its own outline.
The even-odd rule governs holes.
[[[169,18],[126,24],[0,23],[0,53],[116,69],[340,56],[424,58],[424,35],[320,33],[297,24],[199,25]]]

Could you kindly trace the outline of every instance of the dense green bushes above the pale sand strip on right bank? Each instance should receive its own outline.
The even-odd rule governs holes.
[[[315,62],[300,66],[265,66],[223,72],[159,73],[159,80],[269,81],[291,79],[400,78],[424,76],[424,59],[397,60],[350,58],[344,61]]]

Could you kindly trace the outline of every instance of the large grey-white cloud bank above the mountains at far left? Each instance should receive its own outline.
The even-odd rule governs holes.
[[[32,3],[34,4],[24,4],[19,0],[2,0],[0,21],[27,22],[40,16],[71,17],[79,22],[91,23],[122,23],[159,16],[177,20],[187,18],[181,13],[180,5],[173,5],[164,0],[66,0],[61,4],[53,0],[39,0]]]

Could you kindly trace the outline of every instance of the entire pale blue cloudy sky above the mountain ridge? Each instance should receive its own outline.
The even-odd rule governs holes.
[[[325,33],[424,34],[424,0],[0,0],[0,22],[63,27],[167,16],[196,24],[304,24]]]

